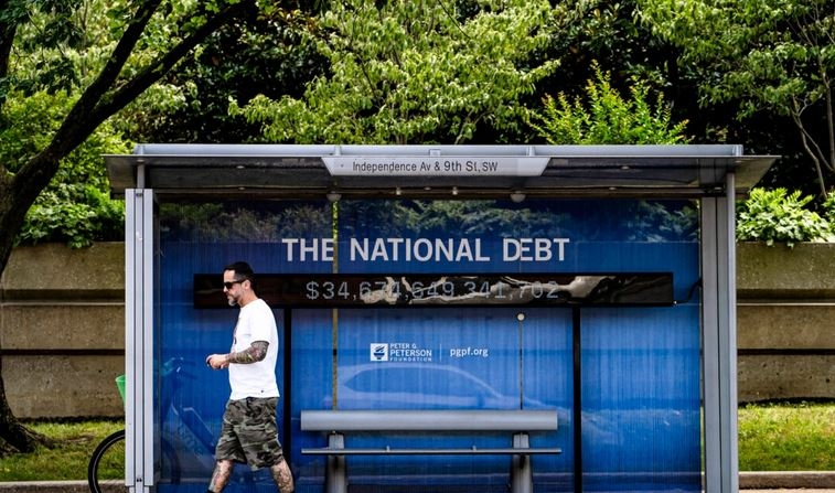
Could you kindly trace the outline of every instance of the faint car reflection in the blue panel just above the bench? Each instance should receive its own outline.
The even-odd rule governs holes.
[[[373,363],[340,366],[340,409],[542,409],[536,399],[504,395],[475,375],[450,365]],[[332,407],[332,397],[323,400]]]

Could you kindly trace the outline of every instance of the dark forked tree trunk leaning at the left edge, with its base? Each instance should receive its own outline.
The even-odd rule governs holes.
[[[160,54],[156,61],[144,66],[132,78],[120,81],[119,75],[126,62],[133,53],[138,40],[161,1],[138,2],[139,7],[128,22],[109,61],[98,77],[84,89],[61,127],[52,136],[50,143],[23,164],[17,173],[10,173],[0,163],[0,274],[6,269],[11,257],[15,234],[20,231],[29,207],[55,175],[60,161],[83,143],[104,120],[133,101],[213,32],[238,18],[245,19],[242,15],[246,12],[257,12],[254,0],[231,2],[206,19],[194,32],[174,44],[170,51]],[[4,62],[8,62],[9,43],[13,39],[15,29],[17,25],[6,25],[0,19],[0,64],[2,64],[0,75],[8,71],[8,64]],[[0,357],[0,457],[12,452],[31,452],[38,444],[51,446],[52,441],[24,427],[14,417],[6,398]]]

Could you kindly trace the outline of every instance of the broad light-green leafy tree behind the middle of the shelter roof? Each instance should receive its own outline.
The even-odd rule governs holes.
[[[557,67],[540,50],[582,8],[543,0],[463,6],[334,2],[315,40],[329,74],[302,98],[258,96],[232,111],[261,125],[274,142],[462,143],[481,127],[513,131],[523,98]]]

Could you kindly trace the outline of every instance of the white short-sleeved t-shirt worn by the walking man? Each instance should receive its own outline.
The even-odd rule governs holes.
[[[267,356],[255,363],[229,364],[229,399],[247,397],[278,397],[276,384],[276,360],[278,357],[278,330],[272,310],[260,298],[240,309],[232,351],[237,353],[249,349],[255,341],[266,341]]]

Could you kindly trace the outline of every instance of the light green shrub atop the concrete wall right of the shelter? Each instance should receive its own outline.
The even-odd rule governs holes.
[[[785,189],[752,189],[748,200],[737,204],[737,239],[785,243],[793,247],[799,242],[828,242],[833,239],[831,223],[806,208],[812,196],[801,197],[800,191]]]

